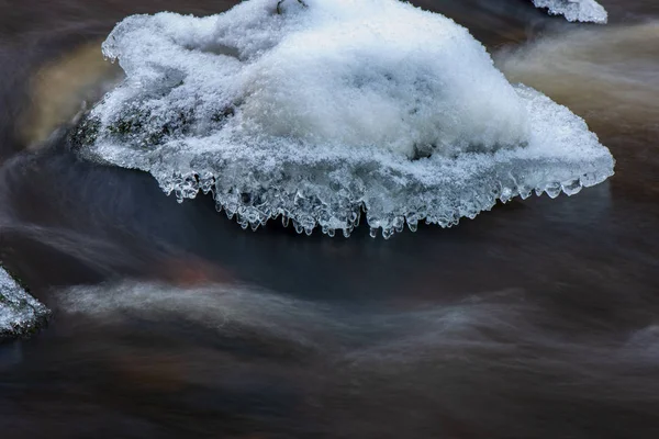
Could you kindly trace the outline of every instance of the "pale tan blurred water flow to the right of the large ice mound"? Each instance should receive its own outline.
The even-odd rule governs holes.
[[[546,35],[498,56],[498,66],[582,114],[593,128],[659,120],[659,22]],[[597,131],[597,130],[596,130]]]

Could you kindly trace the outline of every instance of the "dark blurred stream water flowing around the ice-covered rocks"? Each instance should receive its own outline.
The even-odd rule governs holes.
[[[605,27],[418,1],[584,116],[608,182],[393,239],[244,232],[80,161],[121,18],[227,1],[0,1],[0,260],[51,326],[0,347],[1,438],[659,437],[659,7]]]

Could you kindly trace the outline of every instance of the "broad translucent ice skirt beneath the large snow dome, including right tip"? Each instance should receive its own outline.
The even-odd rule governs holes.
[[[491,210],[498,201],[506,203],[516,196],[525,200],[533,193],[547,193],[552,199],[561,192],[574,195],[614,175],[615,161],[608,149],[599,144],[581,117],[534,89],[522,85],[515,89],[532,116],[530,146],[494,154],[467,153],[453,159],[433,156],[411,161],[380,149],[324,151],[323,159],[314,150],[306,155],[297,150],[277,172],[259,172],[255,167],[260,164],[253,156],[241,157],[239,150],[234,150],[231,158],[212,154],[188,157],[188,169],[174,173],[172,168],[181,168],[181,157],[165,157],[158,150],[136,156],[133,150],[105,144],[82,154],[94,161],[150,172],[179,203],[194,199],[199,192],[211,193],[216,210],[235,218],[244,229],[256,230],[270,219],[281,218],[284,226],[292,223],[299,234],[311,235],[317,227],[330,236],[339,232],[348,237],[364,215],[370,235],[376,237],[381,229],[386,239],[402,232],[405,224],[412,232],[421,222],[451,227],[461,217],[474,218]],[[571,130],[566,130],[568,124]],[[555,133],[548,134],[548,126]],[[561,154],[567,153],[565,142],[563,148],[543,148],[561,136],[569,137],[567,146],[577,157]],[[279,154],[286,156],[286,151]],[[253,169],[248,178],[235,178],[245,167]],[[345,172],[354,176],[356,170],[369,178],[366,184],[359,179],[348,179],[348,184],[332,180],[332,176]],[[300,171],[304,176],[297,179],[299,184],[291,184],[295,180],[291,176]],[[439,176],[438,171],[446,173]],[[367,184],[380,185],[381,196],[369,196]],[[265,190],[255,193],[250,190],[255,187]],[[331,191],[319,193],[327,188]],[[405,203],[392,206],[395,198],[391,193],[403,190]]]

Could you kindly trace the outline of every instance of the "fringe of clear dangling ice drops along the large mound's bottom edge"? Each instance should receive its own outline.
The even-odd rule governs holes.
[[[349,207],[346,212],[346,217],[348,219],[345,224],[324,224],[322,221],[317,221],[308,214],[295,214],[294,206],[298,203],[297,200],[304,199],[304,196],[300,194],[288,194],[288,203],[284,202],[282,203],[283,206],[271,210],[270,212],[264,212],[263,210],[241,202],[244,194],[237,195],[235,190],[230,190],[225,196],[217,195],[215,179],[208,173],[203,177],[198,173],[175,175],[171,180],[166,180],[165,182],[161,182],[160,185],[168,194],[174,192],[179,202],[183,202],[185,199],[194,199],[200,191],[204,194],[212,192],[217,211],[221,212],[224,210],[230,219],[235,217],[236,222],[244,229],[249,227],[253,230],[256,230],[259,226],[265,226],[268,221],[281,217],[282,224],[288,226],[289,223],[292,223],[298,234],[305,233],[306,235],[311,235],[316,227],[320,227],[322,232],[328,236],[333,237],[335,236],[336,230],[340,230],[347,238],[359,225],[361,215],[365,214],[367,224],[370,228],[370,236],[373,238],[377,237],[378,229],[381,229],[384,239],[389,239],[394,233],[403,232],[405,224],[412,232],[416,232],[421,222],[425,222],[428,225],[436,224],[442,227],[453,227],[458,225],[461,217],[473,219],[480,212],[490,211],[498,201],[507,203],[516,196],[526,200],[533,193],[538,196],[543,193],[547,193],[551,199],[557,198],[561,192],[567,195],[574,195],[583,188],[599,184],[613,175],[613,172],[603,173],[593,170],[592,172],[585,172],[580,177],[576,177],[576,173],[579,172],[578,170],[566,172],[573,164],[560,160],[556,160],[551,165],[551,168],[547,168],[547,165],[533,164],[533,160],[528,159],[511,159],[507,165],[510,167],[522,167],[526,171],[532,172],[534,172],[534,168],[536,168],[535,171],[538,173],[551,173],[552,176],[565,173],[566,179],[561,182],[554,178],[543,180],[535,185],[528,185],[524,182],[518,183],[520,180],[525,180],[524,175],[515,175],[510,171],[509,166],[501,165],[490,171],[483,171],[482,173],[472,177],[473,180],[487,180],[488,183],[483,184],[483,187],[491,188],[489,192],[483,191],[482,193],[476,193],[472,188],[463,188],[465,192],[473,192],[472,199],[468,199],[466,195],[463,199],[459,199],[458,202],[453,203],[451,200],[442,198],[433,200],[431,203],[444,204],[449,202],[451,204],[449,209],[439,215],[434,213],[431,209],[422,207],[413,213],[399,212],[398,215],[391,215],[386,218],[373,217],[373,215],[369,214],[368,203],[364,200],[357,200],[349,202]],[[605,159],[602,160],[602,165],[606,165]],[[466,185],[469,185],[469,182],[467,182]],[[437,187],[436,189],[437,191],[445,190],[445,188],[442,187]],[[453,190],[455,191],[455,188]]]

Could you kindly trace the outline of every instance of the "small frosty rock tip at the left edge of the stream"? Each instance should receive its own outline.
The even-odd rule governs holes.
[[[0,267],[0,341],[33,333],[49,313]]]

